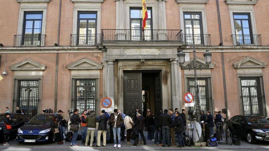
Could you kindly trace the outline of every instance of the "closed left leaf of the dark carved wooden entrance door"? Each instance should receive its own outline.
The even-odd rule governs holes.
[[[134,118],[136,107],[142,110],[142,73],[124,73],[124,112]]]

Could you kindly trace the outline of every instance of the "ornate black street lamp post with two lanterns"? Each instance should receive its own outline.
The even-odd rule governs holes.
[[[193,47],[193,61],[190,62],[189,65],[187,65],[186,67],[183,66],[183,64],[185,63],[185,53],[181,50],[177,56],[179,57],[179,65],[182,69],[194,69],[194,78],[195,78],[195,90],[196,90],[196,101],[195,101],[195,106],[196,106],[196,120],[197,122],[200,122],[200,114],[201,114],[201,109],[200,109],[200,94],[199,94],[199,84],[197,82],[197,72],[196,69],[207,69],[209,68],[209,64],[211,63],[211,57],[212,57],[212,53],[209,52],[209,50],[206,50],[206,52],[204,53],[204,59],[205,59],[205,64],[202,63],[197,63],[196,62],[196,56],[195,56],[195,48]]]

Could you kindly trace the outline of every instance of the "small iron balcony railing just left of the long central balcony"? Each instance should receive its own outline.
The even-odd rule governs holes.
[[[71,46],[95,46],[101,44],[101,34],[71,34]]]

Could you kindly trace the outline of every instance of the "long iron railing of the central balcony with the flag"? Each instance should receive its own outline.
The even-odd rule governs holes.
[[[175,41],[181,30],[102,29],[102,41]]]

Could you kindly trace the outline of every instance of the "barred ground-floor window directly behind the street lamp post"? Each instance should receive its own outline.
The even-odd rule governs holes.
[[[211,90],[211,82],[209,77],[197,78],[199,89],[200,89],[200,106],[201,110],[207,111],[211,110],[212,105],[212,90]],[[195,78],[188,77],[188,92],[193,94],[194,100],[196,102],[196,86],[195,86]]]

